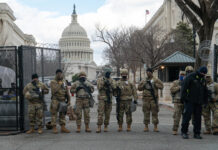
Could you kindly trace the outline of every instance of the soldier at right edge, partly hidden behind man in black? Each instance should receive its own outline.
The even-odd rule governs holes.
[[[217,111],[217,99],[218,99],[218,84],[214,83],[211,75],[206,75],[206,82],[208,88],[208,104],[203,108],[202,115],[204,117],[204,123],[206,131],[204,134],[211,134],[212,129],[214,133],[218,132],[218,111]],[[211,128],[211,112],[213,113],[213,122]]]

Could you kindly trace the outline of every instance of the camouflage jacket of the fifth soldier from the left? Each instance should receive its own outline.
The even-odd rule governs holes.
[[[124,81],[123,79],[120,79],[116,83],[116,88],[121,90],[121,100],[132,100],[133,98],[134,100],[138,99],[136,87],[130,81]]]

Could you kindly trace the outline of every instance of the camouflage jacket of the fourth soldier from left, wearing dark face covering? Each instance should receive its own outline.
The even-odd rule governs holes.
[[[108,87],[107,87],[107,82],[108,82]],[[97,87],[98,87],[98,99],[99,100],[107,100],[107,94],[106,91],[108,90],[110,94],[110,99],[112,99],[113,96],[113,91],[116,88],[115,82],[113,79],[107,79],[105,77],[102,77],[98,79],[97,81]]]

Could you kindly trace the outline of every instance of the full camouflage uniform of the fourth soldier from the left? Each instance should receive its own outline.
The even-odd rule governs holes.
[[[106,82],[109,82],[109,92],[110,92],[110,102],[108,102],[108,97],[106,94],[107,87],[105,85]],[[115,89],[114,81],[109,78],[102,77],[97,82],[98,86],[98,122],[97,125],[103,124],[103,117],[105,115],[104,125],[109,125],[110,121],[110,113],[112,110],[112,95],[113,90]]]

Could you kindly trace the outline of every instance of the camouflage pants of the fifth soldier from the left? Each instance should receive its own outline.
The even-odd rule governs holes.
[[[119,109],[119,121],[118,124],[123,124],[123,116],[126,114],[126,123],[128,125],[132,124],[132,112],[131,112],[131,101],[121,100],[120,101],[120,109]]]

